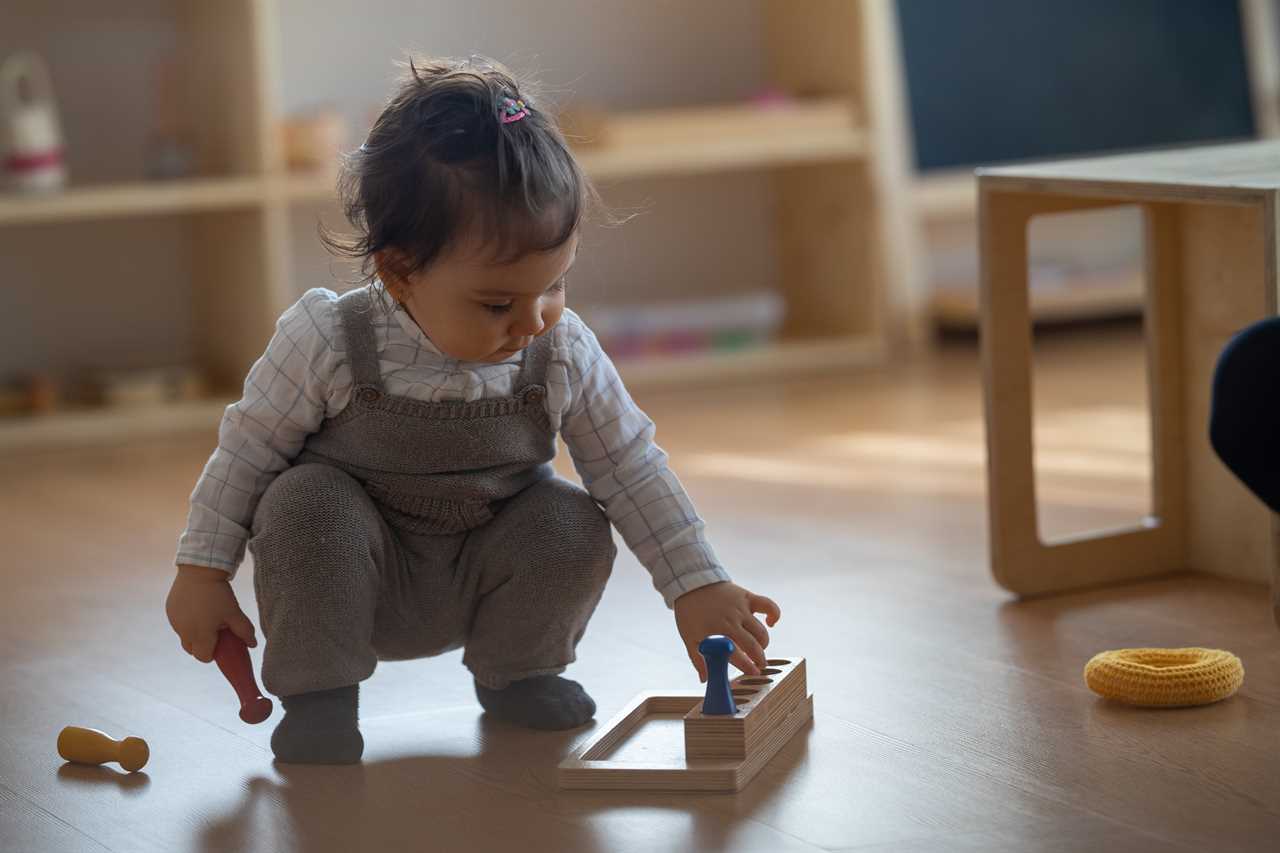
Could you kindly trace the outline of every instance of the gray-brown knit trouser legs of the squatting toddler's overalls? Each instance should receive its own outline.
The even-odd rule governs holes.
[[[253,589],[276,695],[356,684],[379,660],[466,647],[480,684],[562,672],[613,569],[608,520],[552,478],[467,533],[388,525],[365,489],[328,465],[283,471],[253,516]]]

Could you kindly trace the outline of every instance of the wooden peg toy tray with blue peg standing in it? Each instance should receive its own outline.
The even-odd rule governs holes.
[[[803,657],[769,658],[759,676],[730,681],[732,648],[723,637],[703,640],[699,651],[708,663],[707,693],[639,694],[561,762],[559,786],[741,790],[813,719],[813,695]],[[646,744],[637,735],[650,724],[664,731]],[[682,739],[669,724],[678,725]]]

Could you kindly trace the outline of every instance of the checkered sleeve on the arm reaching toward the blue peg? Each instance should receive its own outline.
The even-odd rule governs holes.
[[[728,580],[704,523],[654,443],[654,424],[631,400],[613,362],[581,320],[566,311],[557,361],[568,386],[561,435],[591,497],[671,607],[681,594]]]

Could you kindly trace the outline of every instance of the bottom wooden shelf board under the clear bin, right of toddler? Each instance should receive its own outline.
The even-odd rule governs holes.
[[[782,341],[749,350],[620,359],[627,388],[653,389],[733,379],[769,379],[829,373],[882,362],[884,346],[874,336]]]

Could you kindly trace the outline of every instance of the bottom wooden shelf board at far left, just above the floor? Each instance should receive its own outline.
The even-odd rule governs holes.
[[[0,453],[35,448],[115,444],[178,433],[218,432],[230,398],[84,409],[0,419]]]

